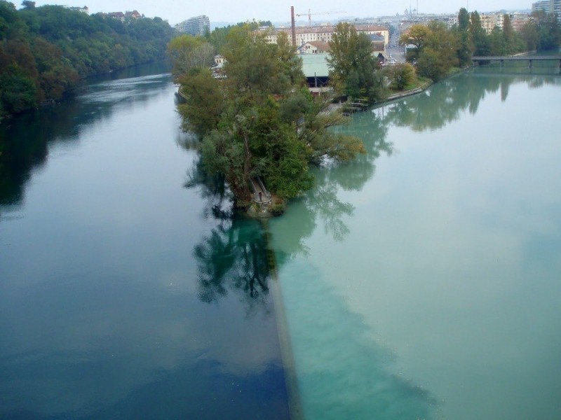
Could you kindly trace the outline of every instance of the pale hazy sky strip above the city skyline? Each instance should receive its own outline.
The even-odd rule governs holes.
[[[21,1],[11,0],[19,8]],[[536,1],[536,0],[534,0]],[[196,15],[207,15],[212,22],[241,22],[245,20],[290,21],[290,6],[296,13],[343,11],[332,15],[312,16],[312,20],[337,18],[371,18],[381,15],[403,14],[404,10],[417,8],[420,13],[456,13],[461,7],[480,12],[500,9],[523,10],[532,8],[532,0],[36,0],[36,6],[64,4],[88,6],[90,13],[126,12],[138,10],[149,18],[159,16],[175,25]],[[299,18],[306,20],[306,17]]]

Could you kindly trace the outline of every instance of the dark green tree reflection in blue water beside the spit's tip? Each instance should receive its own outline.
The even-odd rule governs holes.
[[[209,235],[195,246],[198,266],[198,295],[203,302],[217,302],[236,291],[248,314],[261,308],[269,313],[270,281],[268,244],[259,222],[233,209],[233,195],[222,176],[210,176],[198,159],[187,173],[186,188],[196,188],[205,201],[203,216],[217,221]]]

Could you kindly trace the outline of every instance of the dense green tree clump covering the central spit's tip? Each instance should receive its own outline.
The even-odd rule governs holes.
[[[205,171],[227,181],[236,204],[251,200],[255,176],[288,199],[311,188],[311,163],[364,152],[358,139],[327,130],[344,117],[325,112],[327,102],[311,97],[302,61],[287,36],[269,44],[248,26],[229,30],[220,51],[227,59],[225,79],[213,78],[203,61],[177,62],[201,55],[204,42],[185,39],[168,48],[174,68],[181,69],[175,80],[187,98],[180,113],[184,127],[202,139]]]

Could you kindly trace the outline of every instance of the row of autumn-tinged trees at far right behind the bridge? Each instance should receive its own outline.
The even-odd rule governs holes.
[[[470,63],[473,55],[512,55],[527,50],[558,48],[560,28],[554,15],[534,13],[520,33],[514,31],[511,18],[504,15],[503,27],[490,34],[482,28],[477,11],[469,14],[461,8],[458,25],[447,29],[439,22],[413,25],[400,37],[402,45],[413,45],[407,61],[417,64],[419,76],[440,80],[453,67]]]

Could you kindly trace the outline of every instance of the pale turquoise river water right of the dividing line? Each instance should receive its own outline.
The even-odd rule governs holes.
[[[353,116],[271,221],[306,419],[561,418],[560,98],[480,69]]]

